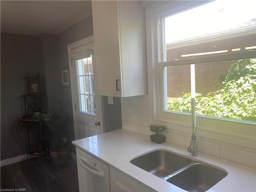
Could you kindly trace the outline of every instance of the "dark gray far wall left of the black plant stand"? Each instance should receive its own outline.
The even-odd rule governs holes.
[[[17,119],[22,117],[20,96],[26,94],[23,75],[44,73],[41,66],[39,38],[1,34],[1,160],[23,155],[17,143]],[[26,141],[26,135],[21,137]]]

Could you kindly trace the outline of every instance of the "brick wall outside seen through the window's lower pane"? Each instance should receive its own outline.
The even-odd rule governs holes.
[[[205,95],[222,88],[225,77],[234,61],[203,63],[195,65],[196,92]],[[190,66],[167,67],[167,90],[168,97],[181,97],[190,92]]]

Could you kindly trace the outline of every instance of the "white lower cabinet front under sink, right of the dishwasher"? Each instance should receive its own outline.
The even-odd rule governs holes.
[[[110,167],[111,191],[112,192],[153,192],[150,187],[133,179],[132,177],[121,173],[119,170]]]

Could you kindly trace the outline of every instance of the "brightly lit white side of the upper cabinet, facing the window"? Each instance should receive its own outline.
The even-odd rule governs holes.
[[[119,1],[122,97],[147,94],[145,10],[141,1]]]

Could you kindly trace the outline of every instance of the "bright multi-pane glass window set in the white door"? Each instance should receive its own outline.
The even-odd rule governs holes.
[[[92,56],[76,60],[79,110],[96,115]]]

